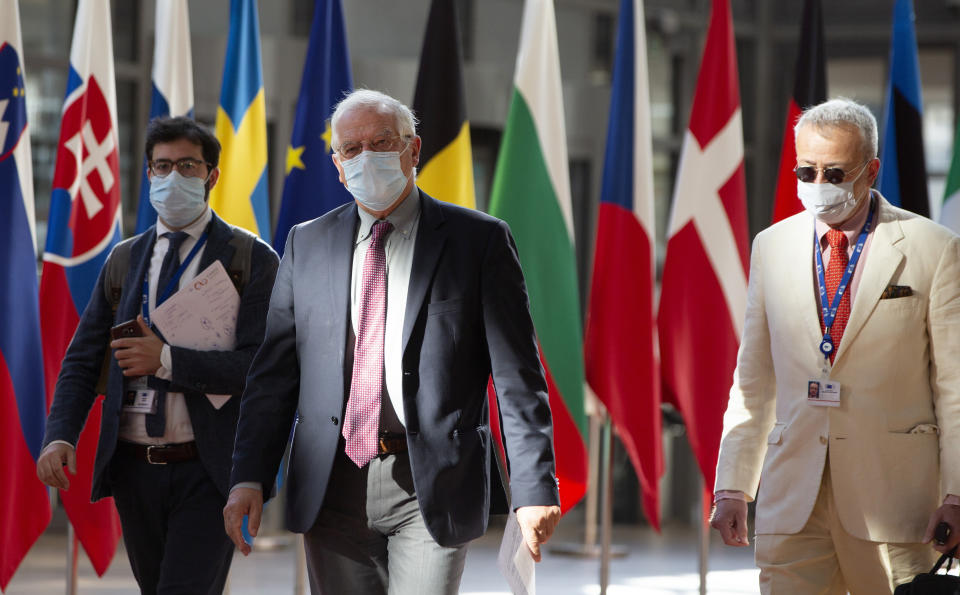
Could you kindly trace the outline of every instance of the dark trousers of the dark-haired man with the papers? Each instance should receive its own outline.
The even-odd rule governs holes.
[[[226,499],[199,459],[151,465],[118,449],[111,478],[123,541],[144,595],[219,595],[233,560]]]

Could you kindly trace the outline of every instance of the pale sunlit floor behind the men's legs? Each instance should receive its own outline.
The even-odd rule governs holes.
[[[566,519],[565,519],[566,521]],[[541,595],[595,595],[600,592],[600,561],[558,554],[550,545],[574,544],[582,534],[575,520],[561,524],[554,541],[548,544],[543,562],[537,566],[537,592]],[[486,536],[471,545],[464,571],[461,593],[464,595],[509,595],[506,581],[497,565],[501,527],[494,526]],[[279,541],[289,541],[281,535]],[[698,592],[697,534],[686,528],[666,527],[662,535],[647,528],[617,527],[613,542],[626,551],[610,567],[609,595],[686,595]],[[53,527],[31,550],[11,581],[6,595],[56,595],[65,593],[66,536]],[[230,577],[230,595],[294,593],[296,549],[292,546],[271,551],[255,551],[234,558]],[[757,571],[753,567],[752,548],[727,548],[711,543],[711,572],[708,591],[712,595],[757,593]],[[82,595],[135,595],[136,583],[126,555],[117,552],[110,570],[97,578],[89,562],[81,556],[79,589]]]

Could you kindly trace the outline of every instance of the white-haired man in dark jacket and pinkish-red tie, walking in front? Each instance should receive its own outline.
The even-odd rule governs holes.
[[[294,427],[287,524],[320,593],[456,593],[487,528],[492,373],[534,559],[560,517],[547,386],[505,223],[417,190],[410,109],[355,91],[333,157],[356,199],[294,227],[247,379],[227,532],[256,534]]]

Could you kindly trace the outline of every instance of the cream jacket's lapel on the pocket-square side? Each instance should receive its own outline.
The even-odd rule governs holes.
[[[857,287],[857,297],[853,300],[853,309],[850,311],[847,327],[843,331],[843,339],[840,341],[834,366],[850,350],[850,343],[857,338],[860,329],[869,319],[880,300],[880,295],[890,284],[904,257],[903,252],[896,246],[897,242],[903,239],[900,223],[890,211],[889,203],[882,198],[879,200],[880,206],[876,215],[877,229],[873,232],[870,253],[864,262],[860,285]]]

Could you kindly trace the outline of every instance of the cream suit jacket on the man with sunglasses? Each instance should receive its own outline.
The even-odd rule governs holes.
[[[794,215],[753,242],[715,488],[757,497],[758,534],[803,529],[827,460],[840,521],[860,539],[918,542],[942,498],[960,494],[960,238],[875,196],[830,373],[839,407],[807,403],[823,362],[813,217]],[[890,285],[912,295],[881,299]]]

